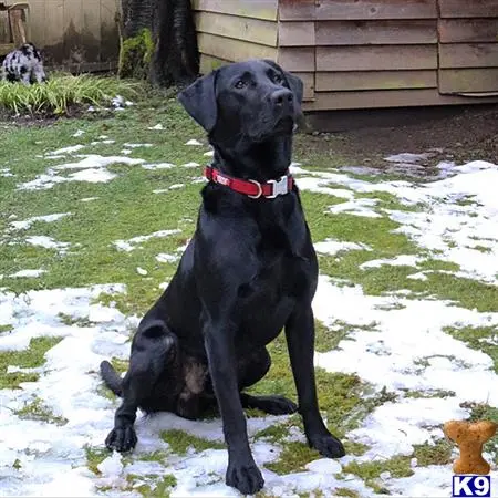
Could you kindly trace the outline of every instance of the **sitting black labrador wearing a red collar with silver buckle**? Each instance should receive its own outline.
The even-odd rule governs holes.
[[[136,411],[198,418],[218,407],[228,446],[226,483],[255,494],[263,478],[249,448],[243,408],[299,409],[310,446],[326,457],[344,448],[319,412],[311,309],[318,261],[299,191],[289,174],[303,85],[272,61],[222,66],[178,98],[215,149],[206,168],[197,228],[169,286],[133,338],[123,381],[101,372],[123,397],[110,449],[136,444]],[[298,406],[243,390],[270,367],[266,349],[284,329]]]

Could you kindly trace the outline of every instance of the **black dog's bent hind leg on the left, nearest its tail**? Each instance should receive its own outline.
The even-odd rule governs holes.
[[[163,321],[141,324],[133,339],[129,369],[121,385],[123,402],[114,416],[114,428],[105,439],[108,449],[128,452],[135,447],[136,411],[153,396],[155,384],[176,354],[177,338]]]

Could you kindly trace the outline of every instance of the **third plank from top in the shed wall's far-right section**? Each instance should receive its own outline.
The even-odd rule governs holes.
[[[439,45],[440,68],[496,68],[498,43],[455,43]]]

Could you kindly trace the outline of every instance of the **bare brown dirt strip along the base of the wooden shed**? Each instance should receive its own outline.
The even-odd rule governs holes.
[[[498,105],[454,108],[452,115],[444,117],[424,120],[417,116],[413,124],[400,126],[367,125],[347,132],[313,132],[305,137],[301,135],[298,147],[304,153],[307,149],[313,154],[332,153],[351,165],[383,166],[384,157],[403,152],[430,152],[430,158],[421,163],[424,166],[434,166],[440,160],[498,163]]]

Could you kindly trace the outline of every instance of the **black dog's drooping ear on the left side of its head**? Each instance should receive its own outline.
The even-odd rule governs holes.
[[[218,118],[216,75],[217,71],[212,71],[178,94],[178,101],[187,113],[208,133],[215,127]]]

